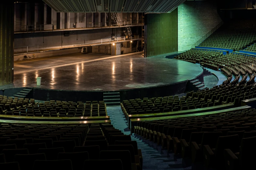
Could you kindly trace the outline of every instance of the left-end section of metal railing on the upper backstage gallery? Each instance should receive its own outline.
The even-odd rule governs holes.
[[[14,32],[31,32],[31,31],[45,31],[53,30],[53,24],[44,25],[15,25]]]

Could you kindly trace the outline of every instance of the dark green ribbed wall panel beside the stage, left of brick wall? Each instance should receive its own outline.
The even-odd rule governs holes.
[[[145,57],[178,50],[177,12],[145,15]]]

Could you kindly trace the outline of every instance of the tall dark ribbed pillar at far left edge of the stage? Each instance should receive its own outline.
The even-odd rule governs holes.
[[[0,85],[13,83],[14,3],[0,3]]]

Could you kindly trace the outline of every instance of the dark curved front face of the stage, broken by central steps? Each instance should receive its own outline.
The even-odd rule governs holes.
[[[160,96],[170,96],[181,94],[184,92],[194,90],[192,87],[193,80],[198,79],[200,82],[203,82],[203,71],[200,75],[192,78],[190,80],[180,81],[177,83],[171,83],[161,86],[153,86],[146,88],[136,88],[136,89],[125,89],[119,90],[120,92],[120,101],[143,98],[147,96],[148,98],[160,97]],[[10,88],[5,89],[4,92],[0,90],[1,95],[13,96],[14,94],[22,91],[26,87],[19,88]],[[52,90],[52,89],[43,89],[43,88],[31,88],[32,92],[27,96],[27,98],[33,98],[39,101],[50,101],[50,100],[60,100],[60,101],[103,101],[104,92],[117,92],[117,91],[71,91],[71,90]]]

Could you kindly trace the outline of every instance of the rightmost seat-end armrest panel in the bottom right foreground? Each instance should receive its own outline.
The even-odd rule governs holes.
[[[226,167],[229,167],[229,170],[239,169],[238,158],[230,149],[224,149],[224,159]]]

